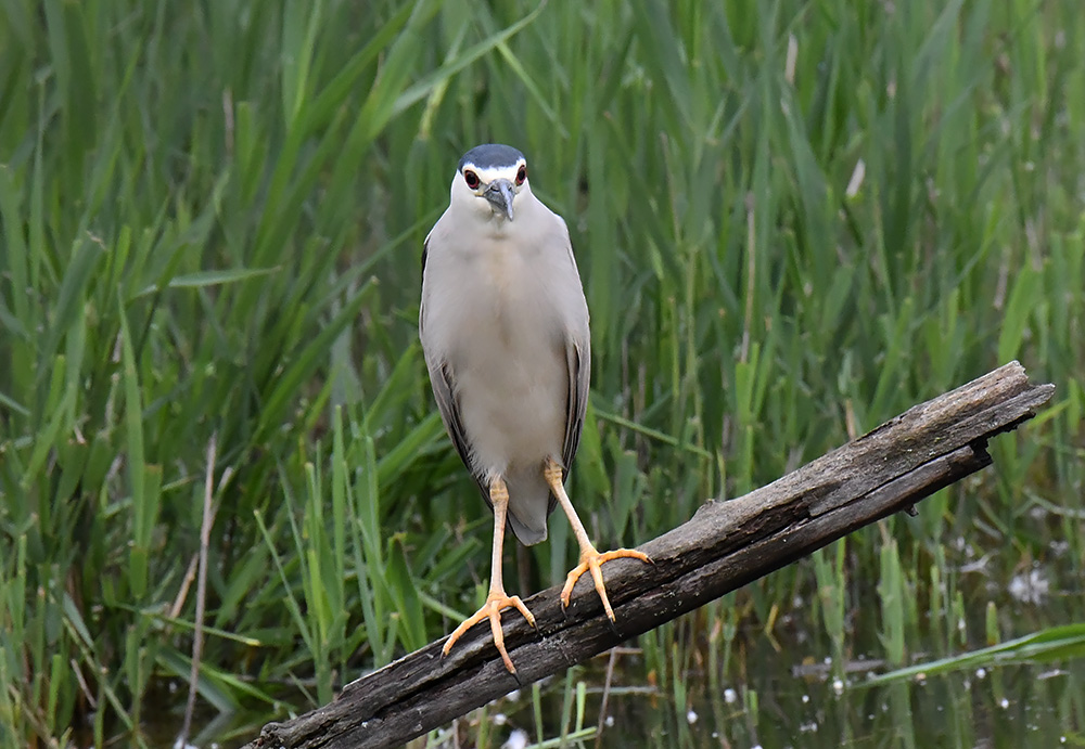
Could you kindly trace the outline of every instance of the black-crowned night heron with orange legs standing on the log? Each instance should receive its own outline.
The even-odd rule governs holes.
[[[505,590],[507,527],[524,545],[540,543],[548,516],[561,506],[579,545],[562,607],[590,572],[611,622],[602,564],[651,563],[636,550],[600,553],[564,489],[588,402],[588,306],[565,221],[532,193],[519,150],[487,143],[460,158],[448,208],[423,245],[419,337],[445,429],[494,511],[486,602],[452,631],[442,655],[488,620],[515,674],[501,611],[514,608],[532,627],[535,617]]]

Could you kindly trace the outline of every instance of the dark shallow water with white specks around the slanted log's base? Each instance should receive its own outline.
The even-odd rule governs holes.
[[[988,606],[997,612],[1004,638],[1043,630],[1056,623],[1085,621],[1085,597],[1077,561],[1072,555],[1045,564],[1021,563],[992,572],[990,565],[967,563],[957,567],[956,584],[966,601],[965,618],[949,625],[941,638],[921,625],[910,645],[929,648],[912,653],[912,660],[928,662],[946,655],[984,647]],[[975,555],[981,559],[980,555]],[[1001,557],[1005,564],[1005,555]],[[999,581],[995,582],[995,578]],[[1085,746],[1085,659],[1016,662],[967,668],[918,676],[879,686],[866,686],[873,673],[890,670],[880,659],[877,578],[864,579],[852,592],[861,610],[848,617],[846,635],[855,656],[843,669],[829,660],[831,646],[809,607],[794,606],[781,616],[770,638],[761,630],[739,633],[731,644],[727,668],[711,672],[709,647],[722,647],[698,627],[677,625],[682,634],[682,676],[655,677],[648,658],[637,650],[616,658],[608,716],[597,739],[570,741],[573,747],[723,747],[727,749],[892,747],[902,749],[950,747]],[[755,583],[756,584],[756,583]],[[948,621],[948,617],[946,618]],[[681,629],[685,628],[685,629]],[[946,628],[943,628],[946,629]],[[958,642],[946,642],[946,638]],[[965,637],[963,646],[959,642]],[[692,643],[692,644],[691,644]],[[692,648],[692,649],[690,649]],[[717,653],[717,655],[719,655]],[[717,662],[723,663],[720,655]],[[586,697],[582,728],[599,722],[608,658],[592,659],[571,674],[548,680],[541,688],[544,738],[547,746],[577,727],[575,695],[582,684]],[[660,682],[660,683],[656,683]],[[304,706],[301,695],[284,696],[285,703]],[[181,724],[183,689],[164,689],[163,709],[144,724],[144,739],[152,747],[171,746]],[[302,708],[306,709],[306,708]],[[195,747],[238,747],[254,738],[260,726],[283,713],[218,715],[206,707],[197,714],[190,744]],[[565,716],[563,719],[563,715]],[[460,746],[475,746],[480,728],[486,746],[509,749],[533,746],[536,736],[531,689],[476,711],[459,723]],[[451,747],[450,734],[434,746]],[[87,746],[86,741],[77,741]],[[122,746],[119,742],[116,746]],[[421,745],[412,745],[421,746]]]

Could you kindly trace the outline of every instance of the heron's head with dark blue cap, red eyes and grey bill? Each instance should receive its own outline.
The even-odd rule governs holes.
[[[510,145],[476,145],[452,178],[452,203],[483,220],[511,221],[521,194],[531,194],[527,159]]]

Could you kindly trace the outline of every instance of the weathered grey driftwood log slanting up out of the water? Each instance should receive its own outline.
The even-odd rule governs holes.
[[[559,673],[614,645],[825,546],[991,464],[987,440],[1035,415],[1054,385],[1030,385],[1011,362],[881,425],[779,480],[693,518],[640,550],[654,565],[604,569],[616,627],[587,576],[562,612],[560,586],[526,601],[538,632],[505,617],[516,664],[506,671],[489,628],[469,632],[447,658],[444,638],[347,684],[331,705],[270,723],[251,747],[392,747]]]

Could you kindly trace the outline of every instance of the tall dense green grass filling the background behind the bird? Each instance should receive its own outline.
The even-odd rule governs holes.
[[[0,0],[0,741],[101,745],[188,683],[213,439],[206,702],[305,709],[473,610],[490,521],[416,321],[489,140],[570,225],[603,545],[1009,359],[1058,385],[919,517],[643,637],[668,692],[784,615],[845,658],[873,602],[892,662],[959,653],[957,539],[1080,569],[1077,2],[534,5]],[[573,563],[552,525],[521,593]]]

